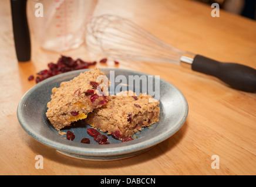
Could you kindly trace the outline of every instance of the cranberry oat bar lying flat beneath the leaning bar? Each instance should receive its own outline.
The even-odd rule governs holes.
[[[133,136],[142,127],[158,122],[159,115],[159,101],[150,95],[136,96],[127,92],[109,96],[107,104],[93,110],[84,121],[122,140]]]

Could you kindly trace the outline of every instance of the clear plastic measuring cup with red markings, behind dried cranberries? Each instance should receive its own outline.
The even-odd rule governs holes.
[[[35,39],[51,51],[79,47],[96,4],[97,0],[29,0],[28,20]]]

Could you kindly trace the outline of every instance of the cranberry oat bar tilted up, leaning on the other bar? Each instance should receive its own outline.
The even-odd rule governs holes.
[[[97,94],[97,78],[100,75],[105,76],[99,68],[81,72],[78,77],[62,82],[59,88],[52,89],[46,117],[56,130],[85,119],[87,113],[107,103],[107,90],[101,90],[101,94]],[[107,81],[106,87],[108,86]]]

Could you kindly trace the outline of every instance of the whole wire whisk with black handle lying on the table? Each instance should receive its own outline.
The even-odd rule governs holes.
[[[193,71],[217,77],[235,89],[256,92],[254,68],[180,51],[119,16],[93,18],[87,24],[86,43],[88,49],[100,51],[113,60],[186,63]]]

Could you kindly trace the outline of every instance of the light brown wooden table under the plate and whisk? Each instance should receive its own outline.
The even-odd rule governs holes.
[[[112,13],[138,23],[180,50],[256,68],[256,22],[195,1],[104,0],[95,15]],[[32,60],[18,63],[9,1],[0,1],[0,174],[1,175],[255,175],[256,95],[229,88],[217,78],[173,64],[122,62],[118,66],[160,75],[177,86],[189,112],[183,127],[146,153],[124,160],[96,162],[59,154],[29,136],[16,117],[23,94],[35,85],[29,75],[47,68],[60,54],[32,41]],[[87,58],[85,46],[62,53]],[[43,169],[35,168],[36,155]],[[219,169],[212,168],[217,155]],[[213,158],[213,160],[212,160]]]

